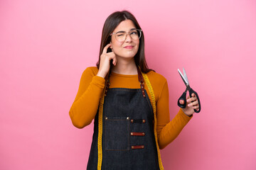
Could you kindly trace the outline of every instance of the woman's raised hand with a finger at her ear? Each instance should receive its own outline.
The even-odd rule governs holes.
[[[109,48],[111,44],[108,44],[104,47],[102,51],[102,55],[100,55],[100,68],[97,73],[98,77],[105,78],[107,73],[110,71],[110,61],[113,60],[113,65],[117,64],[117,57],[114,52],[107,52],[107,48]]]

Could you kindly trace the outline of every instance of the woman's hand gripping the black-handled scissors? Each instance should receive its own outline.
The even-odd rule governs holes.
[[[198,99],[196,98],[196,95],[192,94],[191,96],[192,97],[187,97],[186,108],[181,108],[182,111],[188,116],[193,115],[193,113],[195,113],[194,109],[196,109],[196,111],[199,110]],[[180,100],[179,103],[183,104],[184,101]]]

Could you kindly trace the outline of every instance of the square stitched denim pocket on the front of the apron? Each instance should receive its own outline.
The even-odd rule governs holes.
[[[129,117],[105,118],[106,150],[129,150]]]

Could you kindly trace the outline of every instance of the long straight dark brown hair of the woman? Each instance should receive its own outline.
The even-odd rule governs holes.
[[[110,34],[114,31],[115,28],[117,28],[119,23],[121,23],[122,21],[125,21],[125,20],[131,20],[137,29],[142,29],[139,26],[139,23],[136,20],[136,18],[129,11],[117,11],[117,12],[112,13],[110,16],[107,17],[107,19],[104,23],[103,29],[102,29],[102,39],[101,39],[101,43],[100,43],[100,55],[102,55],[102,51],[103,51],[104,47],[107,44],[109,44],[111,41]],[[110,49],[108,49],[107,52],[110,52],[109,50]],[[100,67],[100,55],[99,55],[99,60],[96,64],[98,69]],[[152,70],[152,69],[149,69],[149,67],[146,64],[143,32],[142,32],[142,37],[139,39],[139,50],[138,50],[137,54],[134,56],[134,61],[135,61],[135,64],[137,64],[140,67],[142,72],[147,73]]]

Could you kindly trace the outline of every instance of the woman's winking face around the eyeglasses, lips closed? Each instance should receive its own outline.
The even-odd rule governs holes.
[[[136,29],[134,23],[131,20],[125,20],[119,23],[117,28],[114,29],[113,33],[117,33],[119,31],[124,31],[129,33],[130,30]],[[132,58],[134,57],[139,49],[139,39],[133,40],[131,36],[128,34],[127,38],[120,42],[115,38],[116,34],[112,35],[111,38],[111,48],[117,57],[125,57]]]

